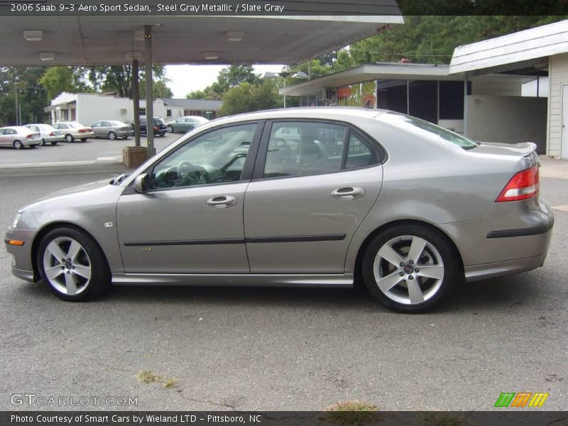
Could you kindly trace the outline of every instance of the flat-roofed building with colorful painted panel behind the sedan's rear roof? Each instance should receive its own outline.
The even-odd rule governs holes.
[[[547,100],[542,91],[523,97],[535,78],[542,80],[498,73],[466,80],[464,72],[450,74],[449,65],[378,62],[286,87],[280,94],[299,96],[305,107],[390,109],[479,141],[533,141],[544,153]]]

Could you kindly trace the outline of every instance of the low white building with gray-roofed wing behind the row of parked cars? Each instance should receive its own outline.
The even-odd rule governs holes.
[[[200,99],[156,99],[153,102],[154,115],[166,121],[185,115],[200,115],[215,118],[222,106],[221,101]],[[51,123],[57,121],[79,121],[85,126],[99,120],[133,121],[132,99],[116,97],[114,94],[67,93],[62,92],[52,99],[45,108],[50,113]],[[146,115],[146,100],[140,100],[140,115]]]

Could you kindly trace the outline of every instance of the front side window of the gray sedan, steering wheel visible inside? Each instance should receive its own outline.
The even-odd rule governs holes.
[[[163,158],[151,173],[154,190],[241,180],[256,124],[204,133]]]

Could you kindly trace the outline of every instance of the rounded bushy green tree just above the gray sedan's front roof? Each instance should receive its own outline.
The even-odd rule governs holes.
[[[226,92],[220,112],[222,115],[231,115],[280,106],[278,86],[275,82],[265,80],[258,85],[242,82],[238,87],[233,87]]]

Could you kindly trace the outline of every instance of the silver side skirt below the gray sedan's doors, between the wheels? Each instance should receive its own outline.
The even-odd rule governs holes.
[[[160,274],[114,273],[114,285],[205,285],[243,287],[353,287],[352,273],[337,274]]]

